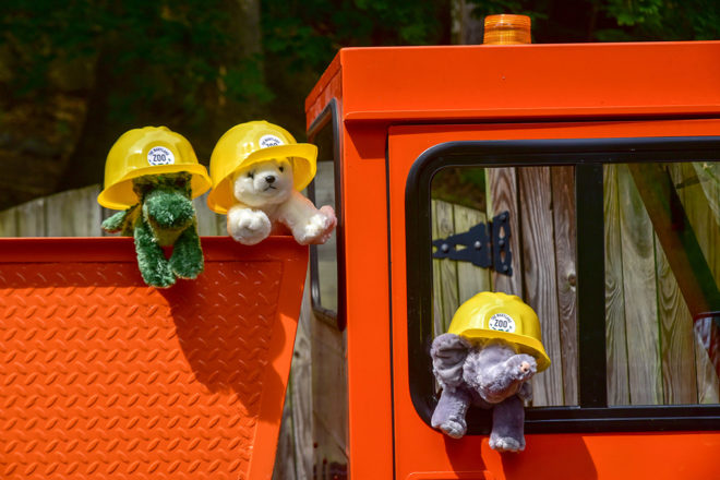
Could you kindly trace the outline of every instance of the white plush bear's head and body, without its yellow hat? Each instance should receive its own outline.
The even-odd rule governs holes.
[[[325,243],[337,225],[332,206],[320,209],[293,188],[292,165],[287,158],[264,160],[232,176],[239,203],[228,211],[228,233],[245,245],[271,233],[290,229],[298,243]]]

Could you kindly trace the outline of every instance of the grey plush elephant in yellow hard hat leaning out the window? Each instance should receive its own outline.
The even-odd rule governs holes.
[[[478,293],[455,312],[448,333],[433,340],[430,355],[443,388],[432,427],[459,439],[467,430],[470,405],[492,408],[490,446],[525,449],[529,380],[550,365],[532,309],[515,296]]]

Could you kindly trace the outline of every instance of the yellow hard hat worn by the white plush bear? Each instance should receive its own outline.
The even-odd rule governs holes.
[[[264,120],[235,125],[217,141],[211,155],[213,190],[207,205],[218,214],[227,213],[235,203],[231,177],[241,168],[272,158],[288,158],[292,164],[293,184],[297,190],[308,187],[315,177],[317,147],[296,143],[281,127]]]

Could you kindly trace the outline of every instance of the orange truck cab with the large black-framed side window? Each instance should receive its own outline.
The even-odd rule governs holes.
[[[349,478],[720,478],[719,58],[337,53],[305,113],[339,219],[311,268],[315,311],[347,327]],[[430,424],[431,341],[481,289],[524,298],[552,360],[523,453],[489,447],[481,409],[460,440]]]

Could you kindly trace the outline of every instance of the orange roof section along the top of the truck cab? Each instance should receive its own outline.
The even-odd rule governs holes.
[[[344,120],[385,124],[717,116],[718,58],[720,41],[347,48],[305,111],[335,96]]]

